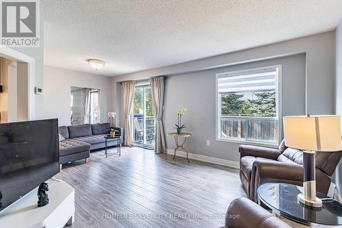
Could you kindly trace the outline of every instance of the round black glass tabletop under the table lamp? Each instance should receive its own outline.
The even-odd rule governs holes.
[[[305,225],[342,225],[342,205],[317,192],[323,207],[309,207],[297,199],[302,187],[288,183],[264,183],[258,188],[259,204],[264,203],[276,216]]]

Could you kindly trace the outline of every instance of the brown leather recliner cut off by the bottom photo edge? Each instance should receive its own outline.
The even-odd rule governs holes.
[[[263,207],[247,198],[238,198],[229,205],[222,228],[292,228]]]

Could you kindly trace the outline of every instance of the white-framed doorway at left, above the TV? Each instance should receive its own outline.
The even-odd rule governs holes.
[[[0,123],[35,120],[35,79],[34,58],[0,47]]]

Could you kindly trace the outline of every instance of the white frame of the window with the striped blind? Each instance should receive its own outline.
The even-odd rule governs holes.
[[[276,107],[277,115],[276,118],[278,119],[278,142],[276,143],[267,143],[267,142],[257,142],[257,141],[250,141],[244,138],[223,138],[220,135],[221,125],[220,125],[220,115],[221,115],[221,106],[220,106],[220,94],[218,93],[218,78],[220,75],[228,74],[228,75],[236,75],[236,74],[248,74],[252,71],[260,71],[267,68],[278,68],[278,77],[276,77]],[[227,71],[222,73],[217,73],[215,77],[215,139],[216,141],[220,142],[233,142],[237,144],[252,144],[252,145],[262,145],[267,147],[278,147],[280,141],[282,139],[282,65],[272,65],[272,66],[263,66],[258,68],[248,68],[241,71]],[[232,118],[239,118],[239,116],[231,116]],[[246,118],[263,118],[263,117],[244,117]]]

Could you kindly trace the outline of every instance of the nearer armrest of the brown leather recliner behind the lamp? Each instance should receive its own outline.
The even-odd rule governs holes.
[[[303,166],[298,164],[257,160],[253,163],[253,170],[260,178],[303,181]]]

